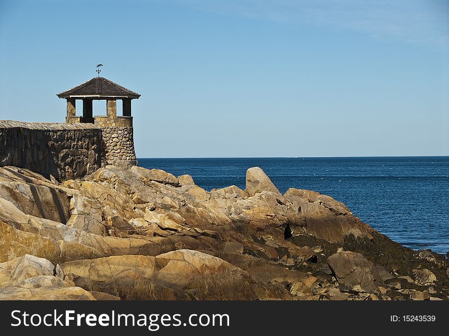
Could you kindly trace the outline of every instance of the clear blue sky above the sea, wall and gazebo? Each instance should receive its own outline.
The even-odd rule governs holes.
[[[140,158],[449,155],[446,0],[0,0],[0,42],[0,119],[102,63]]]

